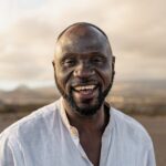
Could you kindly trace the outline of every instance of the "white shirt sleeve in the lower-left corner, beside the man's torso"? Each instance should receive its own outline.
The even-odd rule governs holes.
[[[15,166],[8,138],[0,136],[0,166]]]

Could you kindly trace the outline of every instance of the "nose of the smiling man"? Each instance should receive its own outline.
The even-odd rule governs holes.
[[[75,70],[74,70],[74,76],[77,76],[77,77],[91,77],[92,75],[95,74],[95,71],[94,69],[90,65],[90,64],[86,64],[86,63],[80,63]]]

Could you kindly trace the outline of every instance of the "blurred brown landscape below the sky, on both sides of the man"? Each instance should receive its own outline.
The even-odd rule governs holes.
[[[0,132],[32,111],[60,97],[55,86],[0,90]],[[158,166],[166,163],[166,81],[115,82],[107,96],[112,106],[134,116],[151,134]]]

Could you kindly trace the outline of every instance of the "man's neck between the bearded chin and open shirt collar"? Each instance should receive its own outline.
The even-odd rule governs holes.
[[[75,113],[65,101],[63,101],[63,105],[70,124],[72,126],[75,126],[80,134],[92,132],[100,132],[101,134],[103,134],[108,123],[108,115],[106,113],[104,103],[93,116],[82,116]]]

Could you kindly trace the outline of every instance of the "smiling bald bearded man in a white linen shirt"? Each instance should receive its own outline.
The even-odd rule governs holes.
[[[90,23],[66,28],[53,61],[62,97],[0,135],[0,165],[155,166],[146,131],[105,103],[114,62],[101,29]]]

